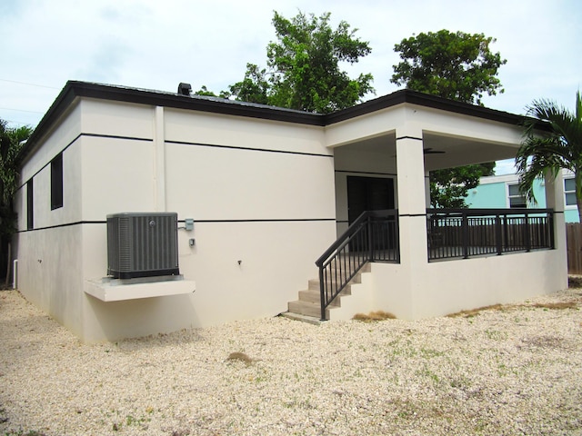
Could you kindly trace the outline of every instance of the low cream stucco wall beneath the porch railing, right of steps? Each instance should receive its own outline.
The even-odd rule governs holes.
[[[406,264],[373,263],[374,310],[414,320],[497,303],[509,303],[567,288],[559,250],[511,253],[426,263],[414,274]]]

